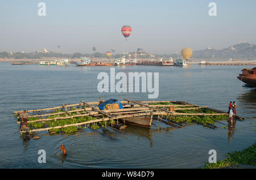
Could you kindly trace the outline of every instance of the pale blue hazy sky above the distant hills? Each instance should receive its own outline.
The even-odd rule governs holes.
[[[38,3],[46,16],[38,16]],[[208,5],[217,4],[217,16]],[[226,48],[240,41],[256,42],[255,0],[2,0],[0,52],[34,52],[46,47],[61,53],[115,53],[142,47],[150,53],[172,54]],[[121,28],[133,29],[125,41]],[[57,48],[60,45],[60,48]]]

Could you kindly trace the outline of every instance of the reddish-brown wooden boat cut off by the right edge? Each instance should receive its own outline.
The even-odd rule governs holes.
[[[237,79],[241,80],[243,83],[246,83],[251,87],[256,88],[256,67],[244,68],[242,70],[242,74],[239,74],[239,76],[237,76]]]

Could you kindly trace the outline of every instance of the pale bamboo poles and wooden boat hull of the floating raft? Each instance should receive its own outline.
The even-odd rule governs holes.
[[[161,102],[162,104],[159,104]],[[90,126],[95,125],[100,122],[112,122],[112,126],[117,128],[118,130],[126,128],[126,125],[133,125],[139,127],[150,128],[152,125],[153,117],[161,117],[161,121],[170,125],[172,127],[183,127],[183,125],[172,122],[170,119],[164,118],[166,117],[174,117],[174,116],[195,116],[195,115],[226,115],[227,113],[220,112],[215,110],[214,113],[178,113],[178,110],[189,110],[189,109],[201,109],[207,108],[207,106],[197,106],[189,104],[184,101],[131,101],[131,100],[123,100],[121,101],[123,105],[123,109],[113,109],[114,106],[110,109],[100,110],[97,105],[100,104],[99,101],[95,102],[86,102],[81,101],[77,104],[71,105],[62,105],[56,106],[53,108],[44,108],[44,109],[35,109],[28,110],[27,113],[29,118],[35,118],[35,120],[29,120],[28,126],[30,123],[40,122],[52,122],[52,121],[65,121],[65,119],[73,119],[80,117],[93,117],[94,119],[85,121],[85,122],[77,122],[72,124],[65,124],[61,126],[55,127],[45,127],[45,128],[34,128],[31,130],[20,130],[20,133],[25,132],[37,132],[37,131],[49,131],[52,128],[66,128],[70,126]],[[170,104],[171,103],[171,104]],[[156,105],[155,105],[156,104]],[[187,108],[188,106],[188,108]],[[190,107],[192,106],[192,108]],[[172,111],[169,111],[172,109]],[[58,111],[59,110],[59,111]],[[61,110],[61,111],[60,111]],[[213,110],[213,109],[211,109]],[[22,113],[22,111],[15,111],[15,114]],[[54,117],[51,118],[51,116]],[[19,119],[19,117],[17,117]],[[159,120],[159,118],[158,118]],[[120,124],[120,121],[123,124]],[[20,122],[17,121],[19,124]],[[106,123],[105,123],[106,124]],[[210,126],[210,125],[209,125]],[[213,127],[213,126],[211,126]]]

